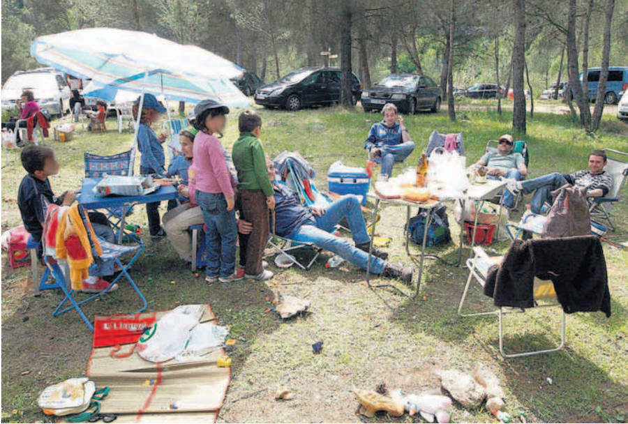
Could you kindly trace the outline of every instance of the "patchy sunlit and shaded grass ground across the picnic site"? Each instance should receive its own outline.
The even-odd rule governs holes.
[[[319,188],[326,188],[327,168],[336,160],[364,166],[362,143],[371,124],[380,119],[380,115],[364,114],[361,109],[347,112],[336,107],[296,113],[260,109],[260,113],[267,153],[300,151],[317,170]],[[510,112],[504,112],[501,118],[491,109],[469,109],[463,114],[465,119],[454,123],[449,122],[446,111],[405,116],[417,143],[408,163],[416,163],[434,129],[463,132],[468,163],[484,152],[487,139],[511,130]],[[114,127],[113,121],[107,124]],[[236,117],[232,114],[223,142],[228,148],[236,138]],[[90,135],[80,129],[71,142],[60,144],[50,139],[47,144],[53,146],[61,162],[61,172],[51,179],[54,191],[80,188],[84,151],[117,153],[128,149],[131,139],[129,132],[119,135],[110,130],[104,135]],[[531,176],[572,172],[586,166],[592,149],[628,150],[628,125],[605,115],[599,134],[592,138],[565,115],[535,113],[534,119],[528,119],[525,139],[530,145]],[[20,223],[16,195],[24,171],[19,151],[3,152],[2,164],[5,231]],[[628,195],[626,188],[622,195]],[[448,210],[452,209],[448,204]],[[628,233],[627,202],[614,211],[616,234]],[[377,233],[394,239],[389,248],[391,259],[410,264],[402,244],[405,211],[387,206],[381,214]],[[511,215],[511,220],[518,218],[518,214]],[[147,229],[144,208],[136,208],[130,221]],[[450,222],[452,231],[458,234],[452,216]],[[456,243],[438,249],[438,253],[455,257],[458,239],[454,239]],[[502,253],[508,246],[503,241],[492,248]],[[498,374],[507,393],[508,410],[525,411],[528,421],[622,422],[627,417],[628,252],[606,243],[613,315],[609,319],[601,312],[569,315],[565,350],[509,360],[498,351],[495,317],[461,318],[456,314],[468,275],[462,267],[427,261],[421,300],[416,302],[388,289],[368,289],[364,273],[346,262],[338,268],[324,268],[329,253],[308,272],[297,268],[280,272],[273,267],[275,281],[284,294],[308,298],[312,303],[308,315],[282,322],[264,313],[264,298],[269,296],[264,283],[208,286],[202,278],[195,278],[167,241],[151,242],[147,238],[144,252],[146,255],[133,266],[132,275],[150,301],[148,311],[184,303],[210,303],[218,321],[231,326],[230,337],[239,340],[230,351],[232,382],[218,421],[419,422],[420,418],[408,416],[357,416],[354,411],[358,403],[350,390],[373,389],[382,382],[391,389],[402,387],[407,393],[433,390],[438,388],[433,370],[470,371],[477,362],[486,363]],[[75,312],[52,318],[61,294],[47,291],[33,298],[27,269],[9,268],[5,256],[1,282],[2,421],[52,422],[40,413],[37,397],[49,384],[84,374],[91,333]],[[472,288],[471,308],[490,307],[477,287]],[[117,292],[88,303],[84,310],[89,317],[130,312],[139,302],[128,296],[129,290],[123,282]],[[554,308],[509,315],[506,343],[513,350],[556,343],[559,319]],[[318,340],[324,340],[324,349],[313,355],[311,345]],[[26,371],[29,373],[24,374]],[[280,387],[290,388],[296,398],[274,400],[274,392]],[[484,422],[494,418],[483,409],[468,410],[456,404],[451,421]]]

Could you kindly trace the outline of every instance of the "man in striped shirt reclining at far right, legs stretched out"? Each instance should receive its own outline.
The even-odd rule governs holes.
[[[530,202],[533,213],[541,213],[544,204],[547,207],[552,202],[551,192],[561,188],[565,184],[587,188],[588,197],[604,197],[611,190],[613,178],[604,171],[606,166],[606,153],[603,150],[594,150],[589,153],[589,169],[583,169],[572,174],[547,174],[528,181],[516,181],[507,179],[507,189],[513,194],[521,191],[525,194],[534,190],[534,196]]]

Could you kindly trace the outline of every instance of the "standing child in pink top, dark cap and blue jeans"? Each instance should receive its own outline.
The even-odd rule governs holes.
[[[195,198],[207,226],[207,277],[212,283],[241,280],[235,274],[237,223],[235,218],[235,181],[229,172],[220,140],[229,108],[215,100],[203,100],[194,108]]]

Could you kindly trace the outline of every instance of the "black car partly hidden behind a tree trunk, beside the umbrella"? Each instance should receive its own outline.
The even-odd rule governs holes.
[[[352,101],[355,104],[360,98],[362,84],[355,74],[352,74],[352,79]],[[294,111],[301,107],[339,102],[340,95],[340,69],[308,67],[295,70],[276,82],[257,89],[255,103]]]

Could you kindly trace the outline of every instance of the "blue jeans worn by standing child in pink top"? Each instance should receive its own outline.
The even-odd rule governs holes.
[[[223,193],[206,193],[196,190],[196,203],[207,225],[205,255],[207,276],[227,278],[235,272],[235,250],[238,229],[235,209],[227,211]]]

